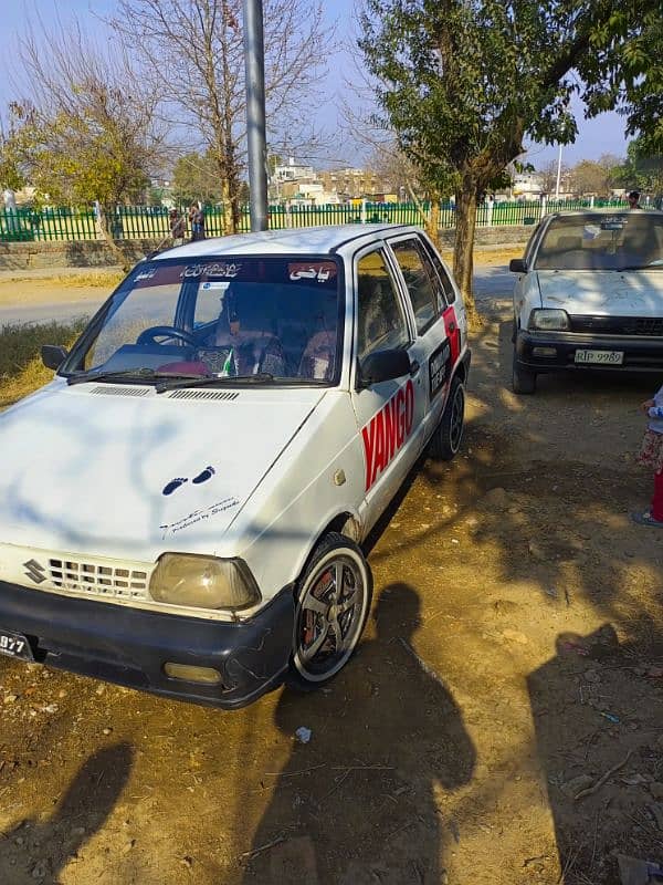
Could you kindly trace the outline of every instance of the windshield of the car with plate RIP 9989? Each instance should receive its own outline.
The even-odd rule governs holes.
[[[535,270],[640,270],[663,267],[663,216],[587,214],[554,219]]]

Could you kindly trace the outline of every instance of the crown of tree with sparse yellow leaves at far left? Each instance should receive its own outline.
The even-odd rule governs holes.
[[[128,60],[91,46],[78,28],[43,25],[20,54],[30,97],[13,105],[13,140],[30,184],[53,201],[144,201],[164,136]]]

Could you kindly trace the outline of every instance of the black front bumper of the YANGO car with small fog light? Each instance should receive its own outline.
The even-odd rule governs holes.
[[[146,612],[0,581],[0,629],[27,636],[38,663],[156,695],[227,709],[277,686],[288,666],[294,595],[285,587],[250,621]],[[211,667],[220,685],[173,679],[167,662]]]

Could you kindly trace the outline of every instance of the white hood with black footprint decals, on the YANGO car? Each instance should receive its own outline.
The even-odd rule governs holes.
[[[0,543],[213,553],[324,394],[56,379],[0,415]]]

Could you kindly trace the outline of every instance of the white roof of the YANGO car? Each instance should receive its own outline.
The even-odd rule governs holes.
[[[379,239],[393,232],[415,231],[412,225],[320,225],[312,228],[263,230],[257,233],[235,233],[210,237],[186,246],[167,249],[151,259],[204,258],[219,254],[293,254],[298,252],[334,253],[349,242]],[[361,244],[360,242],[358,244]]]

